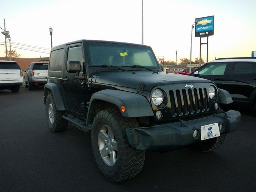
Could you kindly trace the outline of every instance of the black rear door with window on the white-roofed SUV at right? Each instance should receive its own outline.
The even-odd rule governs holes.
[[[232,62],[224,86],[232,98],[250,98],[256,87],[256,62]]]

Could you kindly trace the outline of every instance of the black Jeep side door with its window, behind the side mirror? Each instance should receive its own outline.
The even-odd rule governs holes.
[[[79,61],[81,70],[80,72],[67,72],[67,67],[65,66],[63,74],[64,100],[68,110],[84,116],[87,111],[85,80],[76,79],[76,75],[84,73],[81,44],[72,44],[66,48],[66,65],[67,61]]]

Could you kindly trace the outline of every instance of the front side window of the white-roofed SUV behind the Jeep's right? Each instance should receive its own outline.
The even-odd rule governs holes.
[[[228,63],[212,63],[199,71],[199,76],[224,75]]]

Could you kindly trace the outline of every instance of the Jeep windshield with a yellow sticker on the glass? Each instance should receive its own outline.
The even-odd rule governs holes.
[[[159,68],[150,47],[104,42],[89,42],[87,46],[90,66],[111,65],[131,68],[131,70],[134,68],[137,70],[158,70]]]

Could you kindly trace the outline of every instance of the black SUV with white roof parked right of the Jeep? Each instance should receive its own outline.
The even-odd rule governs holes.
[[[256,58],[219,58],[190,76],[212,80],[230,93],[236,106],[256,108]]]

